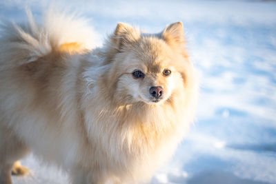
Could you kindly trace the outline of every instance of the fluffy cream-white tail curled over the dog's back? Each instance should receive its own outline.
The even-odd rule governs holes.
[[[99,35],[76,14],[48,10],[40,25],[30,10],[26,12],[28,23],[0,25],[0,69],[36,61],[50,52],[85,52],[99,44]]]

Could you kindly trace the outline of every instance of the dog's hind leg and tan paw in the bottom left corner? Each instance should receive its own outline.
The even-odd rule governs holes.
[[[15,175],[28,173],[27,167],[21,166],[18,161],[28,152],[28,147],[11,130],[0,128],[0,184],[12,183],[11,173]]]

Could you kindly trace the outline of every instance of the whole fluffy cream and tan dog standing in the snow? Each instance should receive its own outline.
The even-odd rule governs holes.
[[[195,114],[182,23],[157,34],[118,23],[95,48],[85,19],[44,17],[1,24],[0,183],[28,173],[19,160],[30,152],[71,183],[150,181]]]

